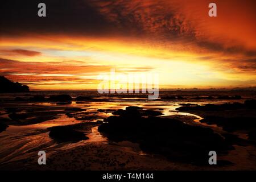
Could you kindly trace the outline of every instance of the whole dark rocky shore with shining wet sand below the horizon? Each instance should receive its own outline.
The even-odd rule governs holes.
[[[255,92],[0,96],[1,170],[255,170]],[[38,164],[46,151],[47,165]],[[217,165],[208,152],[217,152]]]

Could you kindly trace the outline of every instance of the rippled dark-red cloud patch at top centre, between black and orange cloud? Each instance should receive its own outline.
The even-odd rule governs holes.
[[[158,35],[158,39],[195,36],[191,24],[171,5],[171,1],[90,1],[119,28],[137,35]]]

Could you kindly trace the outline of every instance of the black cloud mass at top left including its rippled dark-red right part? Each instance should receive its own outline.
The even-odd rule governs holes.
[[[162,1],[46,0],[46,17],[38,16],[42,1],[4,1],[0,7],[1,34],[64,33],[90,35],[158,34],[166,38],[193,36],[174,9]]]

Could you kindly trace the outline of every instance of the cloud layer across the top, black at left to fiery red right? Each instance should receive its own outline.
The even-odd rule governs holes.
[[[255,7],[252,0],[216,0],[217,18],[208,16],[207,0],[46,0],[47,16],[39,18],[40,1],[4,1],[2,35],[65,34],[154,39],[210,51],[255,56]]]

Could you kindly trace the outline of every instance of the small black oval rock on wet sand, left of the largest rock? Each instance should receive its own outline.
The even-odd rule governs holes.
[[[83,132],[73,130],[68,126],[55,126],[48,130],[50,130],[49,137],[57,142],[78,142],[89,139]]]

